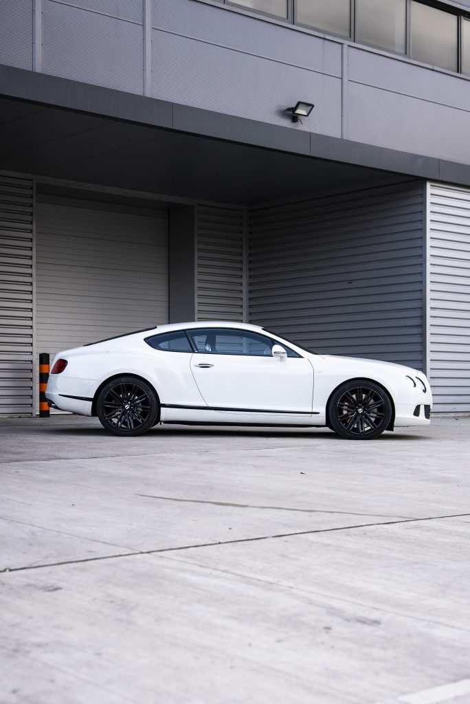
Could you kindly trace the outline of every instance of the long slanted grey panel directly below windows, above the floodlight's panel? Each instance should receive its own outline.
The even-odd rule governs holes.
[[[193,0],[153,0],[153,27],[341,77],[341,44]]]

